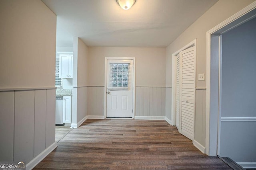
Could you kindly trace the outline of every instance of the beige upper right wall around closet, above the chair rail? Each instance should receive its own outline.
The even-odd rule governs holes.
[[[186,31],[167,47],[166,86],[172,86],[172,54],[196,39],[196,77],[206,73],[206,32],[242,10],[255,0],[219,0]],[[207,78],[207,77],[206,77]],[[197,87],[206,87],[205,81],[196,81]]]

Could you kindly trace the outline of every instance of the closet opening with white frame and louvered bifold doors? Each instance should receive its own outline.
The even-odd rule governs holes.
[[[172,120],[178,131],[194,140],[196,39],[172,55]]]

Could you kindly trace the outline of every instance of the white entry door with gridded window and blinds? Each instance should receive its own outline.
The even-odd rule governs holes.
[[[107,117],[133,115],[133,60],[107,60]]]

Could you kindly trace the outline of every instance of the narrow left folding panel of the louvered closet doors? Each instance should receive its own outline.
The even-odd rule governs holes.
[[[176,127],[180,130],[180,54],[176,57]]]

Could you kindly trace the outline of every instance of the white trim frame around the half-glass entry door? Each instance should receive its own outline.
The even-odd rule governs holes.
[[[132,119],[135,117],[135,57],[105,57],[105,86],[104,86],[104,118],[107,118],[107,76],[108,76],[108,60],[133,60],[133,84],[132,84]]]

